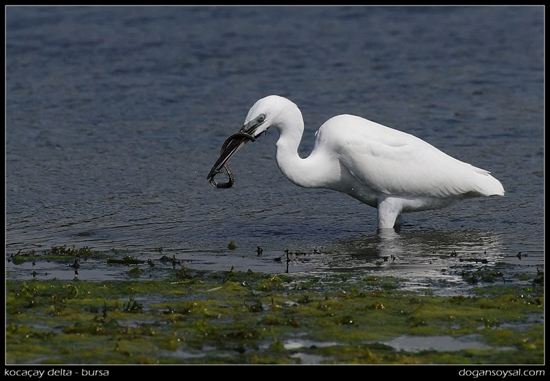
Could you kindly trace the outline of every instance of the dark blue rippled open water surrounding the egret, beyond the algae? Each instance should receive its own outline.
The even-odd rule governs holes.
[[[296,270],[397,254],[377,268],[414,283],[434,253],[518,264],[521,251],[522,271],[535,272],[543,85],[542,7],[10,6],[6,256],[162,247],[209,268],[282,272],[283,250],[322,247],[333,254]],[[322,122],[353,113],[491,171],[506,195],[405,215],[388,241],[375,209],[288,182],[274,131],[232,159],[232,188],[212,188],[221,144],[270,94],[303,112],[302,155]]]

